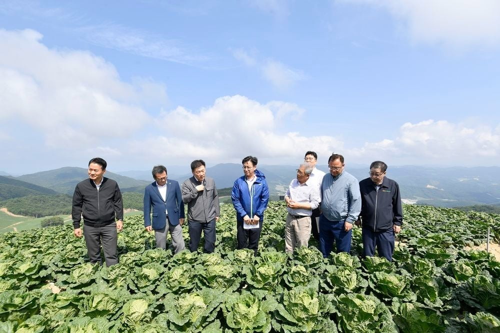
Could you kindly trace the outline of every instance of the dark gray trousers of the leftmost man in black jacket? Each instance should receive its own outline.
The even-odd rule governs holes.
[[[116,233],[116,223],[113,222],[103,227],[83,227],[83,237],[87,247],[87,254],[92,264],[101,263],[100,247],[104,250],[104,260],[106,266],[112,266],[118,263],[116,256],[116,243],[118,234]]]

